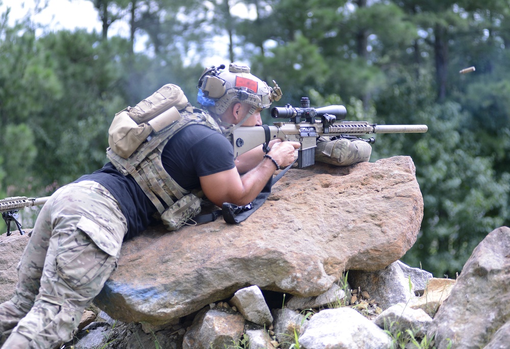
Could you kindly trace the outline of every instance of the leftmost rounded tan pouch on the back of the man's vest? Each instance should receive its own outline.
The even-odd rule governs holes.
[[[117,113],[108,130],[108,144],[115,154],[129,158],[147,139],[152,127],[146,123],[137,124],[126,110]]]

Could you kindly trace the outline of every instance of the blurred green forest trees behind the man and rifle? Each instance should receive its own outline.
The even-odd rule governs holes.
[[[278,105],[309,96],[349,119],[428,125],[377,137],[371,159],[416,164],[425,216],[407,264],[454,277],[508,225],[510,1],[90,1],[100,33],[0,18],[0,196],[46,196],[102,166],[117,111],[170,82],[195,103],[203,62],[223,55],[276,80]],[[115,21],[130,35],[111,35]]]

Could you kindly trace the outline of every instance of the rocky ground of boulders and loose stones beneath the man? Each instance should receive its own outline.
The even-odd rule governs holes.
[[[508,347],[509,228],[488,234],[457,280],[398,261],[423,217],[410,158],[289,170],[273,189],[241,225],[126,241],[94,300],[103,311],[86,313],[59,349],[290,349],[295,336],[301,349],[382,349],[407,330],[428,338],[422,348],[432,337],[438,349]],[[0,236],[0,302],[27,241]]]

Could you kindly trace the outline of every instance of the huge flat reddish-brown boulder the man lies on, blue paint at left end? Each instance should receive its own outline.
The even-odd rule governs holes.
[[[164,323],[250,285],[317,296],[345,270],[379,270],[402,257],[422,217],[409,157],[291,169],[239,225],[156,227],[125,242],[95,303],[123,321]]]

